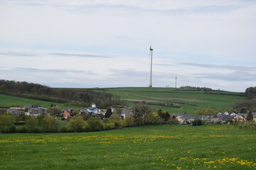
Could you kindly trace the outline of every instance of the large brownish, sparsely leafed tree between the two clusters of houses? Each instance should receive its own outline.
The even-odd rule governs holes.
[[[144,103],[137,103],[133,106],[132,110],[134,111],[134,120],[141,126],[144,123],[144,118],[146,114],[151,112],[149,106]]]

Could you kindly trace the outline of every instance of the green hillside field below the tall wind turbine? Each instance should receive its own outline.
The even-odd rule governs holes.
[[[244,96],[237,96],[239,93],[228,91],[196,91],[181,90],[175,88],[147,88],[147,87],[127,87],[127,88],[105,88],[92,89],[95,91],[105,91],[106,93],[116,94],[127,100],[126,103],[132,106],[138,101],[159,102],[159,103],[179,103],[181,108],[166,108],[153,106],[155,111],[162,109],[169,113],[196,113],[200,108],[232,108],[233,104],[244,101]],[[211,94],[210,94],[211,93]]]

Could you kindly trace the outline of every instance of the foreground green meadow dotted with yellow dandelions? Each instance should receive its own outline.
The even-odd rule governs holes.
[[[255,140],[233,125],[0,134],[0,169],[256,169]]]

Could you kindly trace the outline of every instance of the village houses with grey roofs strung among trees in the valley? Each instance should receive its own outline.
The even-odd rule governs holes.
[[[92,103],[92,106],[81,109],[74,110],[73,108],[65,108],[60,111],[60,113],[53,114],[48,113],[47,108],[42,108],[39,105],[31,105],[27,104],[23,108],[11,107],[9,109],[1,109],[2,112],[10,113],[15,118],[20,118],[20,120],[26,120],[26,116],[37,117],[37,116],[45,116],[50,115],[53,118],[62,121],[69,121],[75,115],[80,115],[82,118],[98,118],[100,120],[104,120],[105,118],[110,118],[110,115],[117,115],[120,119],[125,119],[127,115],[134,115],[134,111],[132,107],[127,106],[112,106],[109,108],[110,111],[106,109],[97,108],[95,103]],[[107,115],[107,112],[108,115]],[[256,122],[256,113],[251,113],[252,120]],[[228,113],[225,111],[224,113],[217,113],[216,115],[189,115],[185,113],[172,113],[169,115],[169,119],[177,120],[177,124],[181,125],[191,125],[194,120],[203,120],[206,123],[212,124],[223,124],[223,123],[238,123],[248,121],[248,113]]]

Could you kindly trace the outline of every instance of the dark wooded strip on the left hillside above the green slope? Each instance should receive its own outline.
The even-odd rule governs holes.
[[[31,98],[55,103],[66,103],[67,106],[90,106],[92,102],[100,108],[121,105],[119,96],[96,92],[89,89],[51,88],[26,81],[0,80],[0,94]]]

